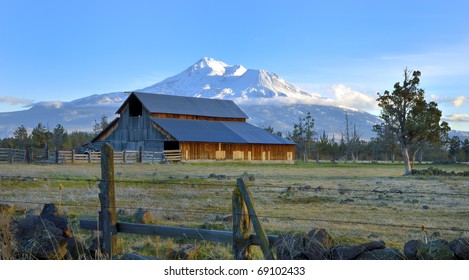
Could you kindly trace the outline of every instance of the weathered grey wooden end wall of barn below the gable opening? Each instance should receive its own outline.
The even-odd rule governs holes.
[[[139,147],[147,151],[163,151],[163,142],[168,137],[153,127],[149,117],[145,109],[141,116],[131,117],[127,104],[114,130],[102,141],[111,144],[117,151],[138,150]]]

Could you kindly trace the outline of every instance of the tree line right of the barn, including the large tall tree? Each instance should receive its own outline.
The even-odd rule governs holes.
[[[378,93],[382,123],[373,126],[376,137],[360,139],[356,126],[351,128],[345,114],[345,131],[340,139],[317,134],[314,119],[308,112],[286,137],[295,143],[296,158],[308,161],[329,159],[403,161],[405,174],[411,174],[417,161],[469,161],[469,140],[449,138],[448,123],[441,121],[442,112],[436,102],[427,102],[425,91],[419,87],[420,71],[404,70],[404,80],[394,84],[392,92]],[[268,131],[274,129],[269,127]],[[280,134],[277,132],[277,134]]]

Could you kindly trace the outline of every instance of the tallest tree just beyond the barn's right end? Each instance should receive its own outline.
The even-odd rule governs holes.
[[[289,134],[288,139],[295,142],[298,154],[303,155],[303,161],[308,161],[308,152],[313,143],[314,135],[314,119],[308,112],[306,117],[300,117],[298,123],[293,125],[293,132]]]

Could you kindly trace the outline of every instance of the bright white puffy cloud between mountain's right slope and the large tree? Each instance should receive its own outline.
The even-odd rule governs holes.
[[[335,104],[342,107],[356,108],[360,110],[378,109],[376,99],[366,93],[362,93],[343,84],[333,85],[331,91]]]

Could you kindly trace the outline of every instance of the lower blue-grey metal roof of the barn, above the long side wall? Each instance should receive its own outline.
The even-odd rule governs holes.
[[[237,144],[295,143],[246,122],[218,122],[152,118],[176,140],[183,142],[223,142]]]

